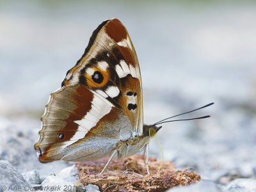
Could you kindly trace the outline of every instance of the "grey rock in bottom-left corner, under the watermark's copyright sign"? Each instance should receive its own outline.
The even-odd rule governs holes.
[[[28,191],[31,187],[8,161],[0,160],[0,191]]]

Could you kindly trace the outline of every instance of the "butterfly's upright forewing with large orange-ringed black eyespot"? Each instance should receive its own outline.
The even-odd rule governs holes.
[[[118,19],[103,22],[63,84],[86,84],[121,108],[141,134],[143,124],[140,67],[127,30]],[[93,37],[92,36],[92,37]],[[140,113],[139,113],[140,111]],[[139,121],[140,120],[140,121]]]

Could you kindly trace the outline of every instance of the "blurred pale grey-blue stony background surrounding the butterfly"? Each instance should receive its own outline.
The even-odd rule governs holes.
[[[163,124],[164,160],[218,183],[255,178],[255,1],[0,1],[0,159],[46,175],[70,164],[38,162],[40,117],[114,17],[138,55],[145,124],[215,102],[184,116],[211,118]],[[161,158],[156,140],[150,156]]]

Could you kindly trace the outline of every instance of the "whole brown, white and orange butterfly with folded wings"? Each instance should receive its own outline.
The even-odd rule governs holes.
[[[164,120],[143,125],[140,66],[120,20],[106,20],[93,31],[81,59],[51,93],[41,120],[35,150],[42,163],[109,157],[101,175],[113,157],[144,150],[150,173],[148,143]]]

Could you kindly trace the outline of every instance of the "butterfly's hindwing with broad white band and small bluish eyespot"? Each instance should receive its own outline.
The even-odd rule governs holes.
[[[51,94],[35,148],[42,162],[81,158],[85,161],[92,159],[92,156],[83,157],[93,150],[109,145],[115,148],[120,139],[131,137],[129,129],[131,123],[120,109],[83,84],[72,84]],[[72,150],[77,154],[70,156]],[[93,155],[101,157],[108,152]]]

